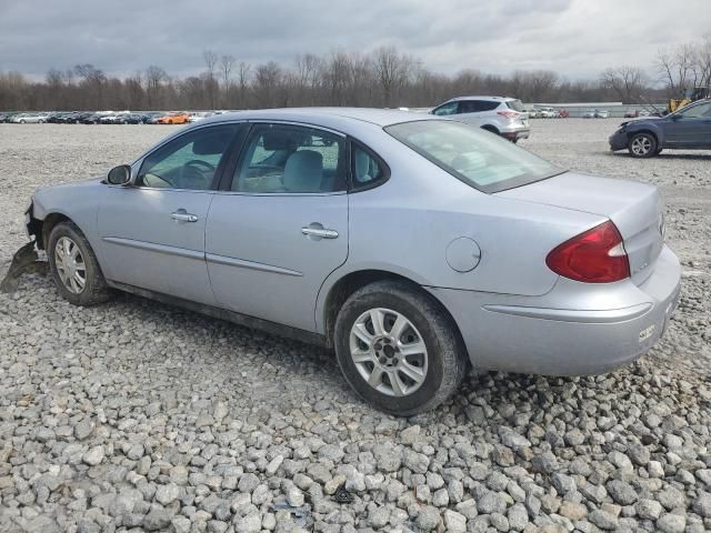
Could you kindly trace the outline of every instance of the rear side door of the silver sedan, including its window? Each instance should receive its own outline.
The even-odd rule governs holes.
[[[229,191],[216,193],[207,260],[218,304],[316,330],[323,280],[348,257],[344,138],[256,124]]]

